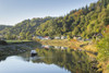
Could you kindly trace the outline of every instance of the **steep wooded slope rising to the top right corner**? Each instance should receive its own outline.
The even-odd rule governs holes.
[[[65,16],[47,21],[41,24],[37,35],[59,36],[80,35],[84,38],[92,38],[94,34],[102,34],[109,25],[109,0],[99,0],[78,10],[73,10]]]

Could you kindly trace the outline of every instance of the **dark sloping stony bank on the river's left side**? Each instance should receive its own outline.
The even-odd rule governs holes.
[[[0,45],[0,56],[11,56],[35,49],[38,45],[37,41],[21,41],[10,40],[8,45]]]

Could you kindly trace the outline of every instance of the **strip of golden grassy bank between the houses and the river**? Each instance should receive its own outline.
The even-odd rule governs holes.
[[[40,44],[43,45],[49,45],[49,46],[62,46],[62,47],[69,47],[72,49],[82,49],[87,51],[97,52],[96,45],[92,41],[78,41],[75,39],[55,39],[55,40],[40,40]]]

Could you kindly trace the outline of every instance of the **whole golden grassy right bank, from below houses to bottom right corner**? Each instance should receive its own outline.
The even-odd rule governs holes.
[[[55,40],[40,40],[40,42],[43,45],[63,46],[63,47],[72,48],[72,49],[82,49],[82,50],[86,50],[86,51],[97,52],[98,56],[95,56],[95,58],[97,58],[97,60],[98,60],[98,65],[97,65],[98,72],[101,72],[101,73],[108,73],[109,72],[108,50],[104,51],[101,49],[98,49],[97,44],[93,40],[92,41],[78,41],[78,40],[75,40],[75,39],[71,39],[71,40],[66,40],[66,39],[65,40],[61,40],[61,39],[56,40],[55,39]],[[104,45],[104,47],[107,47],[107,49],[108,49],[108,45],[105,46],[106,42],[102,44],[102,41],[101,41],[101,44],[99,46],[101,46],[101,45]],[[101,51],[101,52],[99,52],[99,51]],[[90,53],[88,53],[88,54],[89,54],[89,57],[94,57]],[[105,60],[102,61],[100,59],[105,59]]]

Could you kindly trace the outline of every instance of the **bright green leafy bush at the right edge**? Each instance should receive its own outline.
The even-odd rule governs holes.
[[[99,48],[98,59],[101,61],[109,61],[109,32],[105,34],[105,37],[98,42]]]

